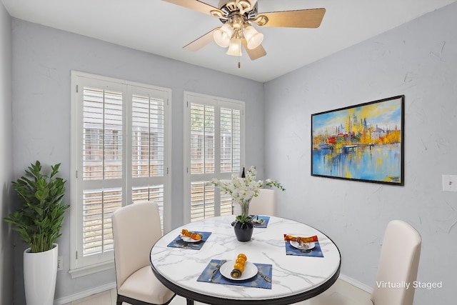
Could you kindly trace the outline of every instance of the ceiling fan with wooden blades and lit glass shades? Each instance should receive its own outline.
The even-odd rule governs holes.
[[[214,40],[219,46],[228,47],[226,54],[233,56],[241,56],[241,45],[243,45],[251,60],[266,55],[261,45],[263,34],[259,33],[252,24],[261,27],[318,28],[326,12],[326,9],[299,9],[258,13],[257,0],[220,0],[219,9],[199,0],[164,1],[209,14],[219,18],[223,23],[222,26],[187,44],[184,49],[198,51]]]

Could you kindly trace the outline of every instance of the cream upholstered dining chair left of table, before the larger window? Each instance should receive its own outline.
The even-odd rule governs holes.
[[[169,304],[175,294],[154,276],[149,254],[162,236],[159,206],[151,201],[114,212],[113,239],[117,305]]]

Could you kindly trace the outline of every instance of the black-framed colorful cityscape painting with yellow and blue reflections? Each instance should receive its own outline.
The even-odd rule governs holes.
[[[311,114],[311,175],[404,185],[404,99]]]

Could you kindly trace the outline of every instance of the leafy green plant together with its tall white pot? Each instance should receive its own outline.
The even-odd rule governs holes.
[[[56,239],[61,236],[64,213],[69,205],[63,203],[64,179],[56,176],[60,164],[51,166],[51,174],[41,173],[41,164],[31,164],[25,175],[13,181],[13,189],[19,195],[21,207],[4,218],[19,232],[29,245],[24,251],[24,286],[26,303],[53,304],[56,287],[57,257]]]

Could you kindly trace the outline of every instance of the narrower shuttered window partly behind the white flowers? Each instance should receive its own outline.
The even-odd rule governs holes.
[[[184,101],[184,213],[189,221],[230,215],[231,198],[210,182],[241,174],[244,103],[190,92],[185,92]]]

